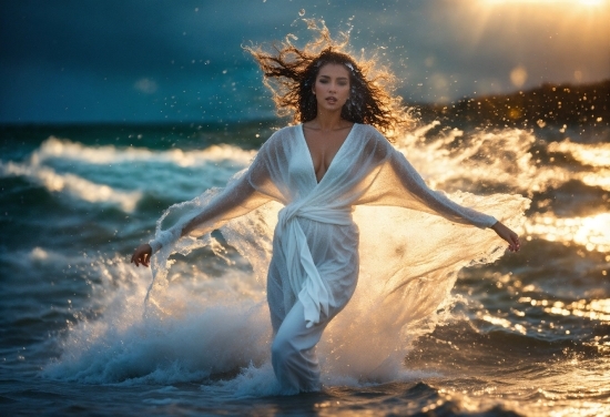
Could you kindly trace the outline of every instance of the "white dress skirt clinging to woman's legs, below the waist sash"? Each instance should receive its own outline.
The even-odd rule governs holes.
[[[319,323],[305,326],[303,304],[289,282],[278,233],[273,240],[273,257],[267,276],[267,302],[274,333],[272,364],[286,391],[319,390],[319,365],[315,345],[331,319],[352,298],[358,282],[358,228],[356,224],[333,225],[297,217],[307,238],[312,258],[332,294],[328,314]]]

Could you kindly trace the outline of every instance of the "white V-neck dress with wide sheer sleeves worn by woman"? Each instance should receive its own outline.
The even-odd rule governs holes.
[[[489,204],[480,197],[469,201],[482,208],[494,207],[492,212],[507,217],[498,207],[512,201],[514,204],[505,208],[520,215],[523,200],[495,200]],[[405,213],[409,222],[418,222],[423,214],[426,218],[433,217],[428,214],[440,215],[449,221],[445,222],[446,227],[454,228],[456,224],[486,228],[496,223],[494,216],[465,207],[444,193],[430,190],[403,153],[370,125],[352,128],[318,183],[303,126],[295,125],[274,133],[251,166],[237,174],[226,189],[174,207],[185,212],[182,218],[170,230],[159,231],[151,242],[153,252],[162,248],[157,254],[157,268],[163,273],[172,252],[189,252],[203,245],[195,243],[193,236],[207,234],[227,222],[231,228],[232,220],[270,202],[283,205],[277,214],[267,271],[267,299],[275,334],[272,363],[281,384],[294,391],[319,389],[315,345],[329,321],[347,305],[355,292],[362,269],[358,226],[369,227],[379,222],[377,216],[366,213],[355,222],[357,206],[395,207]],[[414,213],[419,214],[414,216]],[[185,243],[176,242],[184,225],[195,215],[196,230]],[[396,222],[401,217],[393,218]],[[410,227],[409,223],[398,222],[394,227]],[[464,231],[458,230],[458,233]],[[367,244],[370,242],[368,238]],[[386,244],[392,245],[384,242]],[[399,253],[398,246],[396,253]],[[404,258],[398,261],[405,263]],[[389,273],[382,271],[389,265],[376,265],[375,274],[385,279],[386,289],[385,295],[375,296],[395,296],[397,289],[406,291],[406,283],[415,275],[439,269],[445,262],[423,267],[417,265],[417,258],[411,261],[416,264],[414,268],[400,266]],[[379,262],[383,260],[377,258]]]

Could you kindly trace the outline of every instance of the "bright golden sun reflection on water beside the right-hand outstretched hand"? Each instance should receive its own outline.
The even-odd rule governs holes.
[[[525,225],[527,240],[542,238],[563,244],[576,243],[587,251],[610,252],[610,213],[587,217],[557,217],[553,214],[531,216]]]

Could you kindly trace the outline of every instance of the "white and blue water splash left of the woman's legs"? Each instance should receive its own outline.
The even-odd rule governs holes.
[[[262,292],[238,296],[244,288],[260,288],[252,275],[233,271],[213,279],[177,267],[169,291],[181,302],[166,306],[171,315],[160,319],[143,314],[149,269],[109,261],[88,261],[101,279],[91,296],[98,319],[81,317],[70,327],[58,340],[61,357],[43,376],[85,384],[175,384],[265,362],[270,334]]]

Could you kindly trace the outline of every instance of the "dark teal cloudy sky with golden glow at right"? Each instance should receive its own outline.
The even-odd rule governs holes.
[[[407,103],[610,78],[610,0],[19,0],[0,13],[0,123],[272,116],[242,45],[303,18],[350,31]]]

